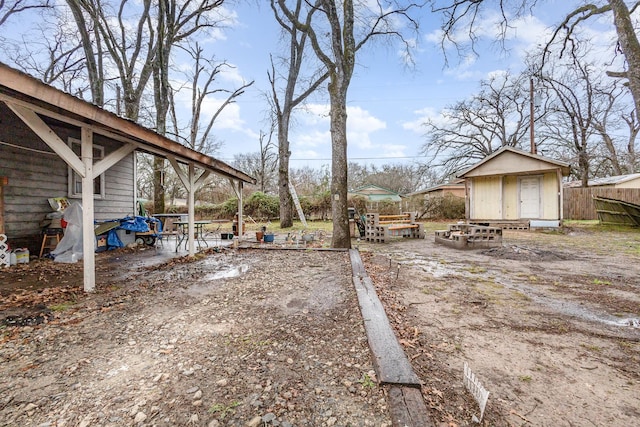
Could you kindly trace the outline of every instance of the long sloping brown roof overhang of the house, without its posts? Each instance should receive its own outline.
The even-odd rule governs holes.
[[[27,107],[39,115],[78,127],[90,127],[95,133],[134,144],[139,151],[164,158],[173,157],[179,163],[193,163],[197,167],[227,178],[256,183],[255,178],[214,157],[185,147],[151,129],[53,88],[3,63],[0,63],[0,101]]]

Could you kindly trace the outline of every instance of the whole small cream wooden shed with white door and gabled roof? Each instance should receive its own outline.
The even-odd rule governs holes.
[[[458,175],[465,180],[466,219],[503,228],[557,227],[567,175],[568,163],[503,147]]]

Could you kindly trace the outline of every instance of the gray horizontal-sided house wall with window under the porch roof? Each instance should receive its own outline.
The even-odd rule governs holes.
[[[43,121],[76,155],[80,154],[80,129],[46,116]],[[118,141],[94,134],[94,159],[104,158],[121,146]],[[132,151],[96,178],[94,219],[135,214],[135,170]],[[48,199],[82,201],[78,174],[4,102],[0,102],[0,176],[8,181],[4,186],[4,233],[12,247],[28,247],[31,253],[37,253],[40,223],[52,211]]]

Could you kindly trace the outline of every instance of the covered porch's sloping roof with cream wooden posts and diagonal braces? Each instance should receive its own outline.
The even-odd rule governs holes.
[[[213,157],[189,149],[156,132],[137,123],[123,119],[113,113],[99,108],[91,103],[71,96],[55,89],[41,81],[28,76],[20,71],[0,64],[0,103],[7,114],[0,120],[0,127],[10,126],[12,121],[26,125],[36,136],[41,145],[39,150],[33,150],[26,141],[15,133],[5,132],[2,142],[2,150],[33,150],[31,159],[41,161],[42,157],[54,156],[62,159],[72,173],[77,176],[78,201],[82,205],[82,244],[83,251],[83,282],[84,290],[91,292],[95,289],[95,246],[94,220],[95,209],[95,179],[114,168],[123,159],[139,151],[166,159],[174,168],[180,181],[187,190],[187,221],[189,230],[194,230],[195,200],[194,194],[204,183],[205,179],[215,173],[229,180],[230,185],[238,196],[238,217],[240,223],[238,229],[242,230],[242,189],[245,183],[255,183],[255,179],[242,171],[239,171],[226,163]],[[6,128],[5,128],[6,129]],[[67,135],[75,135],[79,149],[74,151],[63,138]],[[9,140],[7,140],[9,139]],[[99,139],[108,143],[112,150],[102,157],[96,156],[94,142]],[[31,152],[31,151],[29,151]],[[79,152],[79,154],[77,154]],[[46,156],[43,156],[46,155]],[[46,166],[46,165],[45,165]],[[43,168],[45,166],[42,166]],[[5,187],[0,195],[7,194],[7,186],[20,180],[20,175],[0,169],[2,176],[1,187]],[[30,177],[33,179],[33,177]],[[47,176],[37,177],[43,185]],[[135,172],[131,182],[120,183],[121,186],[129,186],[128,191],[133,195],[131,200],[131,213],[135,212]],[[29,188],[21,188],[18,192],[28,192]],[[19,194],[18,194],[19,196]],[[28,199],[24,199],[28,200]],[[103,201],[108,204],[108,201]],[[128,202],[126,202],[128,203]],[[3,207],[0,201],[0,208]],[[0,232],[6,233],[0,236],[0,242],[6,242],[11,238],[12,226],[10,217],[18,217],[22,210],[26,215],[30,208],[29,203],[14,203],[11,215],[5,214],[0,209]],[[13,230],[17,230],[14,227]],[[91,250],[86,250],[91,248]],[[188,253],[194,255],[196,241],[188,239]]]

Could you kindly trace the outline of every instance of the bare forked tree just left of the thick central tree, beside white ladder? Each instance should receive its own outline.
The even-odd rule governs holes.
[[[305,63],[305,48],[307,46],[308,36],[304,31],[300,31],[287,15],[281,15],[280,2],[271,0],[271,9],[278,24],[288,37],[289,55],[283,60],[286,69],[285,87],[282,95],[278,95],[276,87],[277,74],[276,67],[271,59],[271,72],[268,73],[269,82],[271,83],[271,100],[273,110],[278,124],[278,195],[280,199],[280,227],[291,227],[293,225],[293,202],[289,193],[289,157],[291,151],[289,149],[289,126],[291,122],[291,114],[293,110],[303,102],[311,93],[324,82],[329,74],[324,70],[316,71],[305,81],[302,81],[301,71]],[[300,14],[304,12],[302,8],[302,0],[297,0],[293,9],[293,16],[296,22],[304,21],[305,26],[310,26],[311,18],[316,12],[316,8],[308,10],[307,16],[301,19]],[[303,86],[299,90],[299,86]]]

